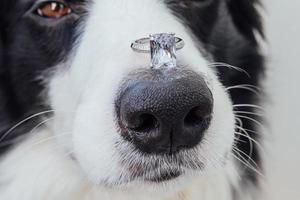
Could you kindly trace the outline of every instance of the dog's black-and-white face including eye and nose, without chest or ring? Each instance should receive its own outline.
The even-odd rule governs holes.
[[[222,167],[235,120],[209,35],[225,4],[7,1],[4,46],[18,105],[53,110],[47,126],[95,184],[173,187]],[[150,54],[130,48],[170,32],[185,41],[177,68],[151,69]]]

